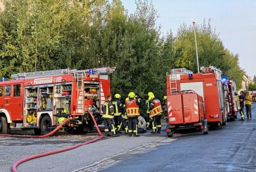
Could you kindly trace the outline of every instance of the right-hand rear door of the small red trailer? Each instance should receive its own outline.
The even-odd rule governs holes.
[[[182,95],[184,105],[184,122],[195,123],[199,121],[199,107],[196,93]]]

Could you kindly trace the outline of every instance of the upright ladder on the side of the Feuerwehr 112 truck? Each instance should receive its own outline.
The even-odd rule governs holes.
[[[77,88],[77,107],[76,113],[77,114],[84,114],[84,72],[77,72],[76,73],[76,88]]]

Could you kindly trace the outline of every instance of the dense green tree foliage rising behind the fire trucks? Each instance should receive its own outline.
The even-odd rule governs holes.
[[[0,0],[1,1],[1,0]],[[113,93],[165,95],[174,67],[196,72],[193,27],[177,36],[157,27],[152,2],[129,15],[120,0],[8,0],[0,12],[0,75],[58,68],[116,66]],[[218,66],[241,85],[238,55],[225,49],[210,22],[196,26],[200,66]]]

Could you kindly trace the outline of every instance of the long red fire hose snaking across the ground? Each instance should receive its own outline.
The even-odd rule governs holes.
[[[17,166],[19,166],[19,164],[22,164],[23,162],[26,162],[28,160],[32,160],[32,159],[37,159],[37,158],[40,158],[40,157],[45,157],[45,156],[48,156],[48,155],[53,155],[53,154],[56,154],[56,153],[61,153],[61,152],[65,152],[65,151],[68,151],[68,150],[72,150],[72,149],[75,149],[79,146],[83,146],[83,145],[88,145],[90,143],[93,143],[95,141],[98,141],[99,139],[102,139],[104,136],[103,134],[100,132],[100,129],[93,117],[93,114],[88,111],[88,113],[90,114],[90,116],[92,116],[92,120],[93,120],[93,123],[97,129],[97,132],[99,133],[99,137],[95,138],[95,139],[92,139],[90,141],[86,141],[84,143],[78,143],[74,146],[69,146],[67,148],[62,148],[60,150],[53,150],[53,151],[50,151],[50,152],[45,152],[45,153],[40,153],[40,154],[37,154],[37,155],[32,155],[32,156],[29,156],[29,157],[25,157],[23,159],[20,159],[20,160],[17,160],[16,162],[14,162],[14,164],[12,165],[12,171],[13,172],[17,172]],[[51,134],[53,134],[54,132],[56,132],[58,129],[60,129],[60,127],[62,125],[64,125],[65,123],[67,123],[67,121],[70,120],[70,118],[67,118],[65,121],[63,121],[58,127],[56,127],[56,129],[52,130],[52,132],[49,132],[48,134],[45,134],[43,136],[22,136],[22,135],[10,135],[10,134],[0,134],[0,136],[7,136],[7,137],[27,137],[27,138],[43,138],[43,137],[47,137],[47,136],[50,136]]]

